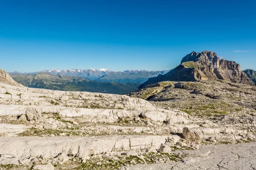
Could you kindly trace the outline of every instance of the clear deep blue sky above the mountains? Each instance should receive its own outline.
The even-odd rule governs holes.
[[[165,70],[215,51],[256,70],[255,0],[1,0],[0,68]]]

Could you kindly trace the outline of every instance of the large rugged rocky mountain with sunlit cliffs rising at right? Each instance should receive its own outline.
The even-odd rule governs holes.
[[[255,85],[255,83],[247,77],[238,63],[219,59],[217,54],[212,51],[203,51],[186,55],[181,60],[179,66],[172,71],[158,77],[148,79],[139,88],[145,85],[162,82],[162,81],[186,81],[194,82],[198,80],[214,80],[223,79],[230,82],[242,83],[246,85]]]

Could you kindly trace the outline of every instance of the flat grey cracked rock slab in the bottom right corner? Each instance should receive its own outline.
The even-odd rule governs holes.
[[[121,170],[254,170],[256,143],[202,146],[199,150],[183,151],[188,154],[182,161],[160,164],[137,164]]]

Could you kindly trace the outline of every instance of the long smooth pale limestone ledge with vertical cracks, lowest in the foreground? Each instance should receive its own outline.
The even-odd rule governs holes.
[[[137,150],[146,147],[159,148],[170,136],[93,136],[93,137],[5,137],[0,138],[0,155],[44,156],[51,158],[61,155],[61,160],[67,159],[65,154],[84,158],[113,150]],[[6,158],[7,159],[7,158]],[[58,157],[57,157],[58,159]],[[59,159],[59,160],[60,160]],[[62,161],[61,161],[62,162]]]

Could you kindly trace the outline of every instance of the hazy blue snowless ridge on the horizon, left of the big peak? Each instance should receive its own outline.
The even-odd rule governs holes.
[[[148,80],[148,78],[156,77],[159,74],[166,74],[169,70],[164,71],[145,71],[145,70],[127,70],[118,71],[105,74],[104,76],[96,79],[97,82],[138,82],[143,83]]]

